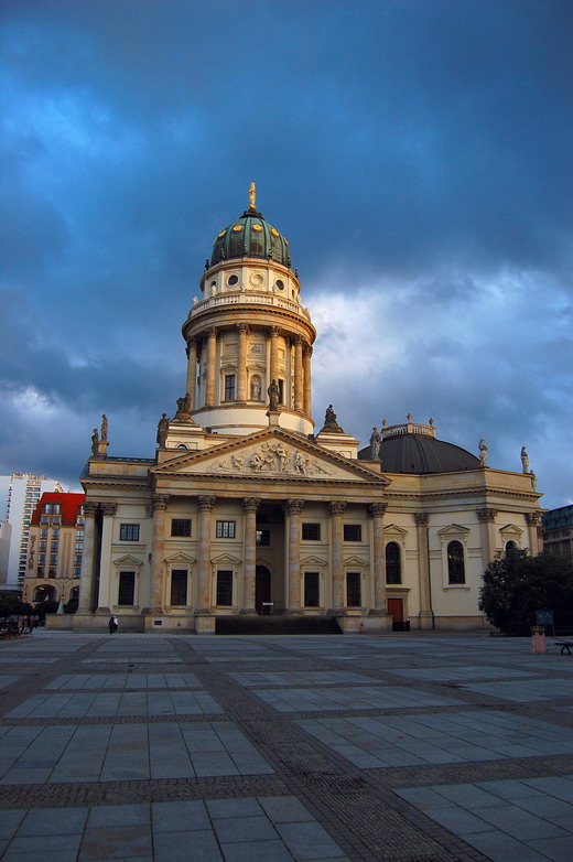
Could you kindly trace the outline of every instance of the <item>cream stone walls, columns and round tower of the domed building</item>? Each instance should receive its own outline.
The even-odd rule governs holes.
[[[247,215],[226,230],[256,224]],[[122,631],[197,634],[263,613],[334,615],[345,632],[484,625],[489,560],[508,541],[539,551],[531,477],[477,460],[387,472],[383,445],[382,461],[358,457],[332,408],[314,435],[315,331],[296,274],[273,259],[218,259],[201,289],[183,325],[186,394],[154,457],[108,456],[106,433],[82,477],[75,627],[111,613]],[[435,429],[409,418],[385,433]]]

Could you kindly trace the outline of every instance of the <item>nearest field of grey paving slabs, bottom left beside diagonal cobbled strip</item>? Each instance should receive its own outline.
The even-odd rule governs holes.
[[[4,862],[69,853],[78,862],[292,862],[348,856],[292,796],[1,812]]]

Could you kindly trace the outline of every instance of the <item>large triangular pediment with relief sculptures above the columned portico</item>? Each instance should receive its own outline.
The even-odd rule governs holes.
[[[160,476],[215,475],[358,482],[386,486],[390,481],[357,460],[348,460],[282,428],[268,428],[201,452],[182,452],[151,467]]]

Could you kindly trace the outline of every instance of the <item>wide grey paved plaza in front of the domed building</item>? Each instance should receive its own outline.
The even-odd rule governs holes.
[[[486,634],[0,643],[6,862],[571,862],[573,656]]]

